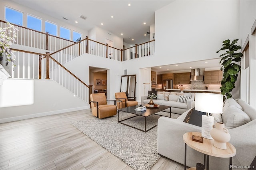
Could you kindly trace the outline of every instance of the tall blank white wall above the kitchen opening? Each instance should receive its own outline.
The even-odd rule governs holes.
[[[218,58],[222,41],[239,38],[238,1],[182,0],[156,11],[156,55],[162,65]]]

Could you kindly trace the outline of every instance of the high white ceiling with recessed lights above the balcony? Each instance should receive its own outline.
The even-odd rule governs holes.
[[[122,37],[128,44],[140,44],[150,41],[147,32],[150,31],[150,25],[154,25],[155,11],[170,4],[173,0],[12,1],[87,31],[98,26]],[[76,24],[75,21],[78,23]]]

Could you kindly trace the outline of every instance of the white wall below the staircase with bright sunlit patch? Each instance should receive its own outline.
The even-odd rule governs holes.
[[[15,87],[10,88],[10,83]],[[30,88],[24,91],[22,86]],[[90,108],[88,103],[74,97],[73,93],[53,80],[7,79],[0,85],[1,105],[6,99],[2,96],[3,90],[12,97],[9,103],[15,105],[16,98],[19,101],[15,101],[18,103],[16,106],[0,108],[0,123]],[[17,90],[18,93],[13,93]]]

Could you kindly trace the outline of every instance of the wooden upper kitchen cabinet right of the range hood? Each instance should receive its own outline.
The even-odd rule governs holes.
[[[204,71],[205,84],[220,84],[222,77],[223,72],[221,70]]]

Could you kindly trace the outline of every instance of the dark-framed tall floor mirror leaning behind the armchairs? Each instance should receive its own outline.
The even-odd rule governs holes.
[[[122,75],[120,92],[125,92],[128,98],[135,99],[135,89],[136,89],[136,74]]]

